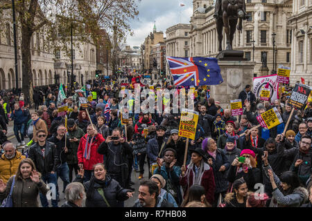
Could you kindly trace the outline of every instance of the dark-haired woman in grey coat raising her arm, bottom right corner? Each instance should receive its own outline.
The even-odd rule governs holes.
[[[293,171],[286,171],[280,177],[272,171],[268,164],[268,154],[265,153],[263,160],[263,170],[270,178],[272,185],[272,199],[270,207],[300,207],[309,199],[308,191],[301,186],[299,177]],[[295,162],[295,166],[298,162]]]

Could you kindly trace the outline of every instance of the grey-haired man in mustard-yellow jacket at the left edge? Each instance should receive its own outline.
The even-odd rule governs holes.
[[[16,150],[16,145],[12,142],[5,142],[3,151],[4,153],[0,157],[0,179],[6,183],[12,175],[15,175],[19,163],[26,157]]]

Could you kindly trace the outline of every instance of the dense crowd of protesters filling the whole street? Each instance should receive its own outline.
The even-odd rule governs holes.
[[[47,184],[55,189],[55,207],[60,191],[64,207],[84,201],[87,207],[122,207],[135,192],[135,207],[312,206],[312,102],[293,113],[284,134],[292,109],[286,94],[263,102],[247,85],[238,97],[243,115],[232,116],[200,86],[194,97],[196,136],[189,140],[184,165],[181,113],[158,113],[156,106],[155,113],[134,113],[130,99],[128,124],[121,124],[120,90],[119,84],[94,84],[86,88],[92,99],[84,107],[73,94],[58,101],[58,90],[48,88],[44,101],[35,99],[35,111],[29,111],[24,97],[10,109],[0,97],[2,206],[39,206],[38,195],[41,205],[49,206]],[[172,103],[170,97],[157,99]],[[66,117],[58,113],[58,104],[67,104]],[[273,107],[284,123],[256,128],[257,116]],[[11,120],[18,144],[6,139]],[[25,137],[31,140],[27,145]],[[28,151],[17,151],[21,145]],[[139,173],[139,189],[132,188],[132,173]]]

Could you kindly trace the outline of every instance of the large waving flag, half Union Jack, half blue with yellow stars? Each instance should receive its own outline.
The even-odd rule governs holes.
[[[213,57],[166,57],[175,86],[216,85],[223,82]]]

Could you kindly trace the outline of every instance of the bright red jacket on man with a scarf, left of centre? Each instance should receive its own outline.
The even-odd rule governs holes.
[[[90,138],[89,138],[90,139]],[[101,133],[98,133],[92,142],[91,145],[91,153],[90,153],[90,159],[87,160],[84,157],[85,153],[85,144],[87,142],[87,134],[81,137],[80,143],[78,146],[78,152],[77,152],[77,157],[78,157],[78,164],[83,164],[83,169],[93,171],[93,166],[98,163],[103,163],[103,155],[98,154],[98,146],[104,142],[105,139],[101,135]],[[89,145],[89,144],[88,144]]]

